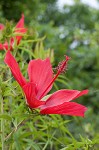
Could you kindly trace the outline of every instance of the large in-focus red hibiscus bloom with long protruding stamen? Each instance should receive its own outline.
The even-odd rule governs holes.
[[[26,103],[31,108],[39,108],[41,114],[62,114],[84,116],[87,108],[75,102],[70,102],[84,94],[88,90],[62,89],[53,93],[46,101],[42,98],[51,90],[54,81],[62,71],[67,68],[69,57],[58,66],[57,74],[53,76],[53,70],[49,58],[45,60],[31,60],[28,65],[29,81],[27,81],[10,51],[6,53],[5,63],[9,66],[14,78],[17,80],[26,97]]]

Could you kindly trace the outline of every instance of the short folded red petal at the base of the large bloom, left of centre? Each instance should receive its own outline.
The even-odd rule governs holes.
[[[23,87],[23,91],[26,95],[27,104],[30,108],[37,108],[45,103],[44,101],[39,101],[36,99],[35,85],[33,83],[27,83]]]

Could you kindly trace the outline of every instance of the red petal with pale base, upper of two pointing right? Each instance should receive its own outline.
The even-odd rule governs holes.
[[[46,107],[57,106],[63,104],[64,102],[69,102],[78,98],[84,94],[87,94],[88,90],[78,91],[78,90],[59,90],[52,94],[45,103]]]

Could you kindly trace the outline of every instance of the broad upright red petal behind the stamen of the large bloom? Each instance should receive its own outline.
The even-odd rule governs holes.
[[[30,82],[33,82],[36,85],[37,99],[41,99],[42,97],[40,96],[52,81],[53,71],[49,58],[45,60],[37,59],[30,61],[28,74]],[[49,87],[44,95],[50,91],[51,87],[52,86]]]

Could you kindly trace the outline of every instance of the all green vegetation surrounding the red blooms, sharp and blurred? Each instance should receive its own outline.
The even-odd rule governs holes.
[[[69,55],[72,59],[68,71],[56,81],[53,91],[89,89],[89,94],[79,99],[88,111],[83,119],[37,116],[29,112],[11,73],[5,75],[8,68],[3,63],[4,52],[0,52],[0,100],[4,103],[0,118],[4,121],[4,150],[98,150],[99,10],[80,0],[63,9],[58,7],[57,0],[0,0],[0,22],[7,26],[3,36],[0,34],[1,42],[9,38],[11,27],[22,13],[28,35],[16,47],[16,57],[23,74],[27,76],[30,59],[50,56],[55,67],[65,54]]]

